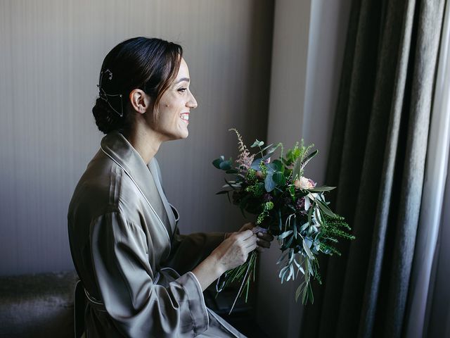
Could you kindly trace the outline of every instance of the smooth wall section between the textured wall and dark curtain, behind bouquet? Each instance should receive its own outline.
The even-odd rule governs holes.
[[[290,147],[302,137],[319,155],[306,175],[324,183],[349,0],[277,0],[274,20],[268,142]],[[300,337],[303,306],[294,300],[299,282],[281,285],[276,243],[259,265],[257,320],[270,337]],[[269,291],[270,290],[270,291]]]

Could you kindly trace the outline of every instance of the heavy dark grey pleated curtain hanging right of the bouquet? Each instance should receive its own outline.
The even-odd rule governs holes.
[[[301,337],[401,337],[444,0],[354,0],[328,159],[356,240],[324,258]]]

